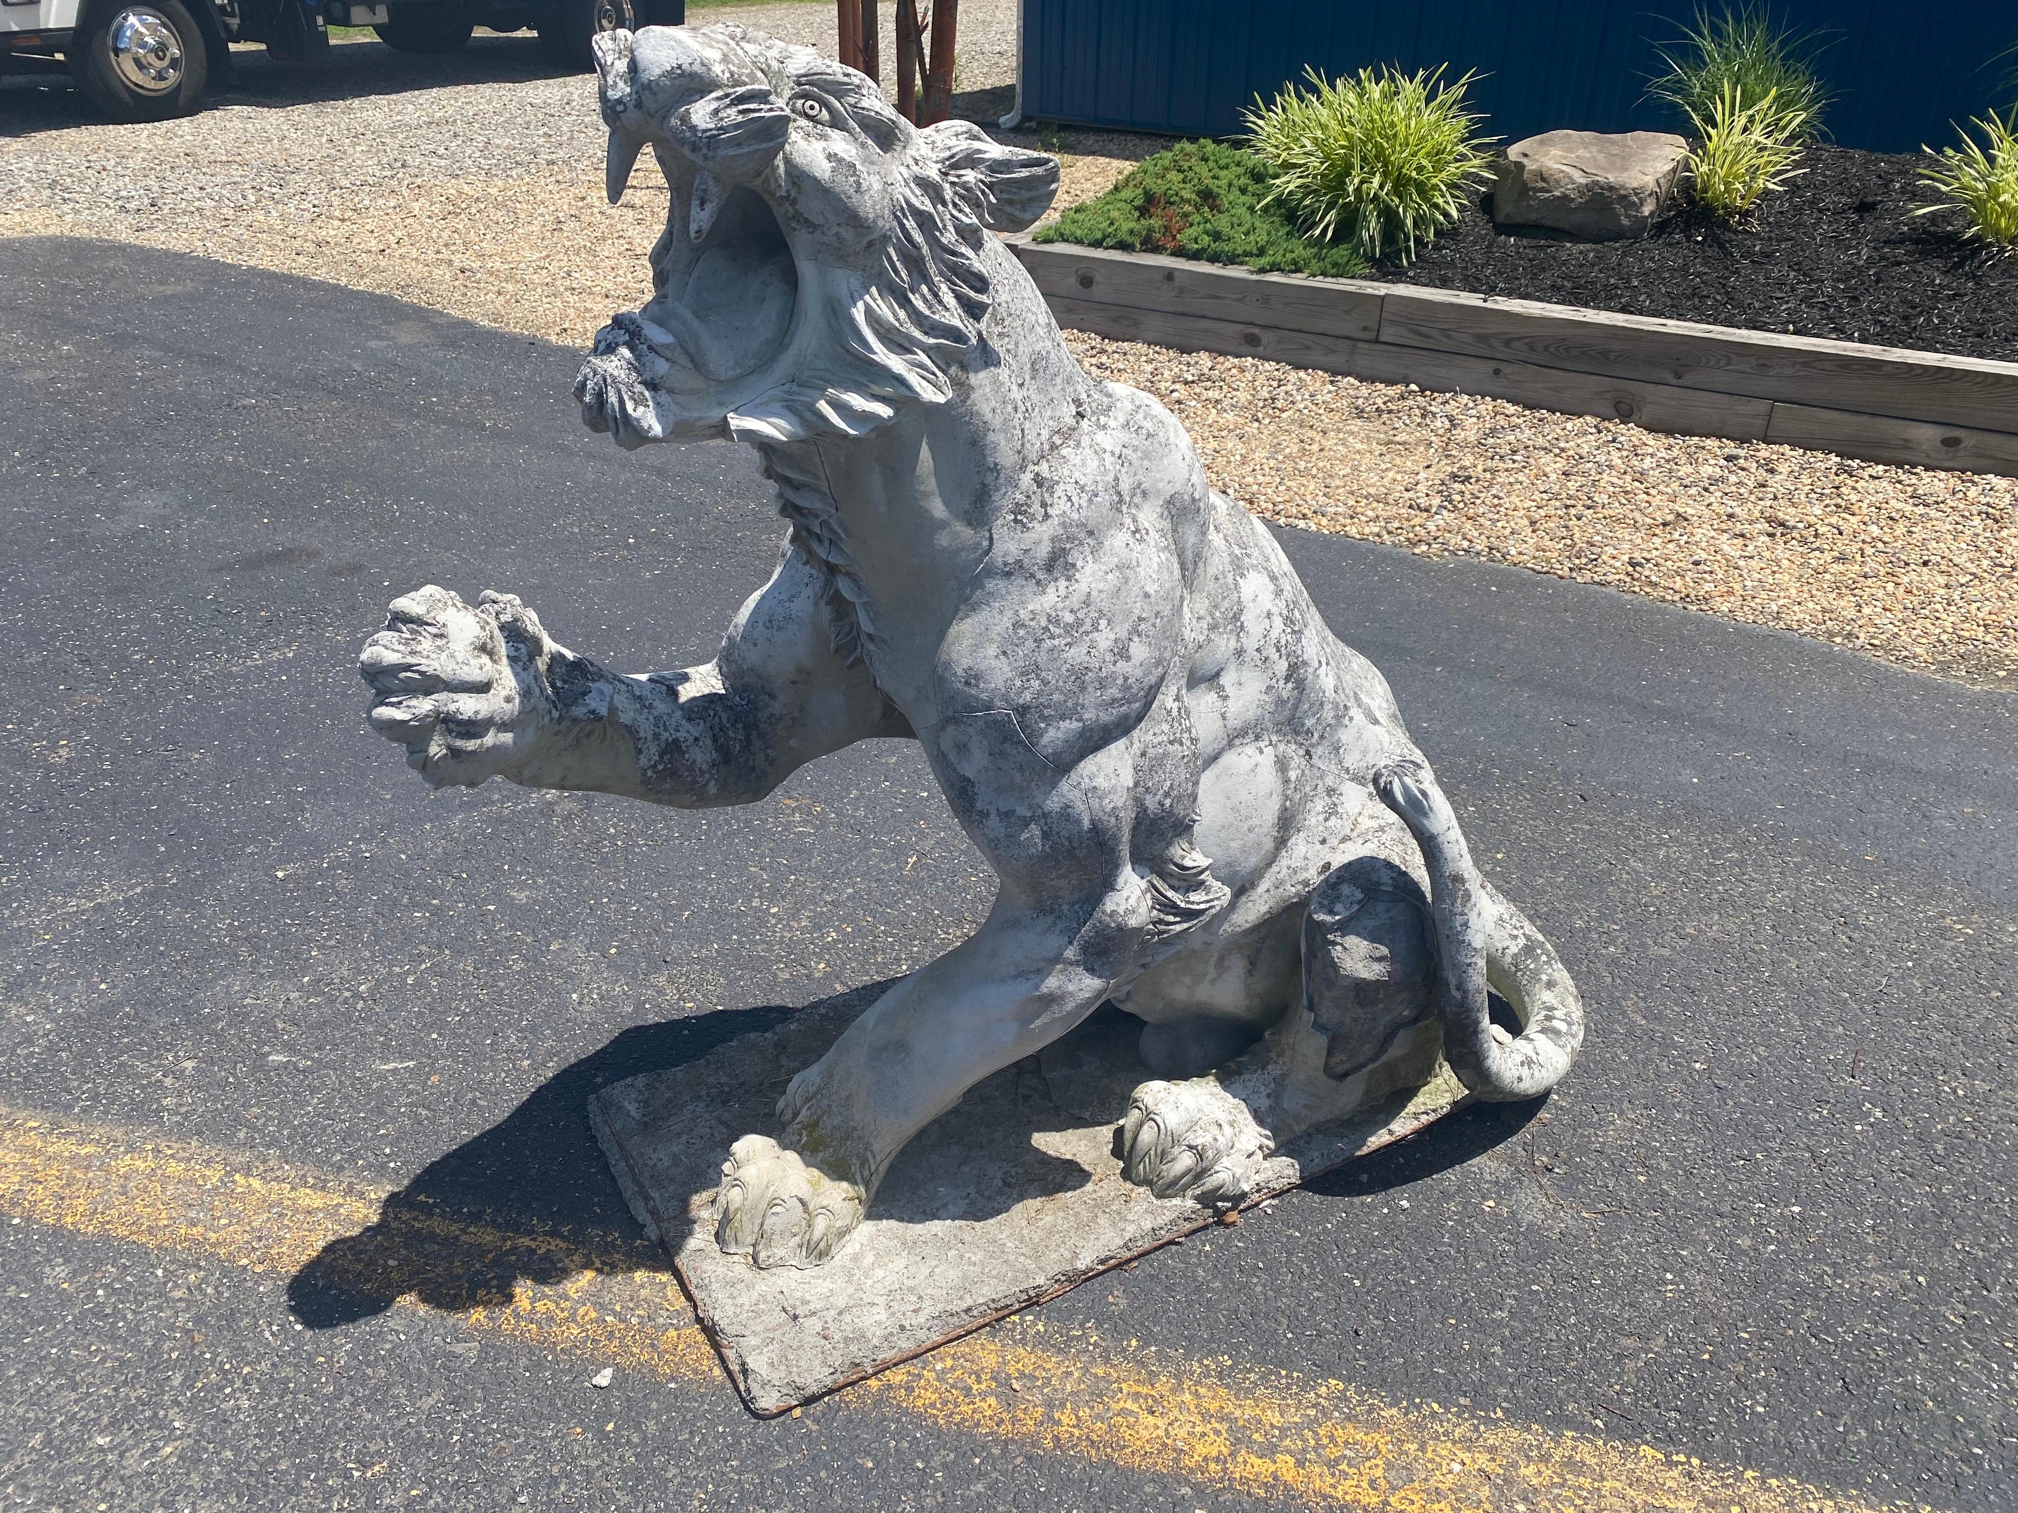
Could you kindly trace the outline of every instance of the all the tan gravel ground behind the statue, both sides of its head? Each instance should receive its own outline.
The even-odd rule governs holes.
[[[1007,109],[1013,0],[965,0],[961,103]],[[710,8],[831,50],[825,4]],[[884,56],[892,56],[886,44]],[[1080,200],[1160,145],[1017,131]],[[531,38],[452,59],[375,42],[301,75],[250,52],[188,121],[93,121],[0,85],[0,234],[83,234],[297,272],[581,347],[650,288],[656,171],[611,208],[593,81]],[[1820,635],[1994,686],[2018,678],[2018,480],[1655,436],[1255,359],[1074,337],[1185,418],[1213,482],[1271,520],[1544,573]]]

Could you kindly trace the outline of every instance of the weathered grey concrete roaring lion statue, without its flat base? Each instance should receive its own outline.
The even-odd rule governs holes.
[[[739,1140],[716,1239],[825,1261],[890,1160],[1116,1003],[1152,1081],[1122,1166],[1237,1204],[1273,1142],[1421,1083],[1552,1087],[1582,1041],[1550,944],[1479,876],[1382,676],[1152,397],[1074,361],[1015,256],[1051,157],[914,127],[739,26],[597,38],[609,194],[670,186],[652,299],[575,393],[622,446],[757,448],[779,567],[712,662],[615,674],[517,597],[394,601],[371,724],[430,785],[755,803],[916,740],[999,876],[973,938],[870,1007]],[[1489,988],[1522,1023],[1493,1025]]]

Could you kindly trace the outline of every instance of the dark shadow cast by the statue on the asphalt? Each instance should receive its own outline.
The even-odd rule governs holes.
[[[868,1007],[886,986],[876,982],[837,997]],[[626,1029],[535,1087],[504,1120],[428,1162],[385,1198],[375,1223],[325,1245],[289,1279],[295,1317],[315,1329],[333,1329],[383,1313],[402,1297],[460,1313],[507,1305],[523,1283],[555,1285],[583,1271],[668,1273],[668,1253],[644,1239],[632,1220],[589,1132],[589,1095],[626,1077],[698,1061],[739,1035],[775,1029],[827,1003],[835,1001],[805,1009],[728,1009]],[[1102,1013],[1118,1015],[1114,1009]],[[1033,1134],[1082,1124],[1049,1097],[1025,1099],[1021,1079],[1017,1103],[1027,1110]],[[1473,1103],[1409,1140],[1312,1178],[1304,1190],[1322,1198],[1366,1198],[1425,1182],[1511,1140],[1546,1103],[1546,1097]],[[1068,1192],[1088,1180],[1076,1162],[1053,1158],[1053,1166],[1043,1168],[1049,1192]],[[1003,1206],[1029,1196],[1037,1194],[1029,1188],[1005,1192]],[[888,1208],[878,1214],[904,1218]],[[686,1233],[666,1239],[678,1247]]]

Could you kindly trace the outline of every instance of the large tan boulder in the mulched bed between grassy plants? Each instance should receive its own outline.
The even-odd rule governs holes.
[[[1689,143],[1667,131],[1544,131],[1507,147],[1493,220],[1590,242],[1645,236],[1687,155]]]

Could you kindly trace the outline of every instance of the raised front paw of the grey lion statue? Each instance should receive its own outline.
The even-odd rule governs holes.
[[[357,674],[371,684],[371,728],[406,746],[430,785],[474,785],[507,771],[545,724],[539,619],[507,593],[474,605],[436,585],[391,601]]]

